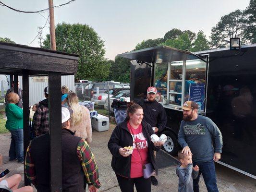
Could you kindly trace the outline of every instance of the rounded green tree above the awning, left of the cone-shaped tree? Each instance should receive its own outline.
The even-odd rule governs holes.
[[[167,39],[162,45],[166,45],[172,48],[178,48],[182,50],[192,48],[192,43],[188,33],[183,33],[181,36],[175,39]]]

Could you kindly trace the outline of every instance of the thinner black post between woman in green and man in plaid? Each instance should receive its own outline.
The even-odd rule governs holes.
[[[30,111],[29,111],[29,85],[28,85],[28,72],[23,71],[22,75],[22,89],[23,89],[23,135],[24,135],[24,158],[26,155],[26,150],[29,145],[29,139],[30,139]],[[25,170],[24,170],[25,172]],[[26,177],[26,174],[24,174],[24,185],[30,185],[29,180]]]

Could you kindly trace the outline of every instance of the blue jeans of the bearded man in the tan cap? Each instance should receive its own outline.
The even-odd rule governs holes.
[[[208,192],[219,192],[218,187],[217,187],[214,161],[211,160],[211,161],[204,162],[204,163],[193,162],[193,166],[195,166],[195,165],[198,165],[199,173],[198,173],[198,177],[195,180],[193,180],[194,192],[199,192],[199,184],[198,183],[199,183],[201,173],[205,180],[207,191]]]

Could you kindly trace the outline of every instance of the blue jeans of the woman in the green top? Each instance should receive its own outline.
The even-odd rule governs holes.
[[[10,160],[17,158],[19,162],[24,161],[23,129],[15,129],[9,131],[12,134],[9,158]]]

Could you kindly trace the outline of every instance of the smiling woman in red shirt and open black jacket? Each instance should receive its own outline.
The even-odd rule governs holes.
[[[122,192],[151,192],[151,179],[143,176],[143,165],[151,163],[158,174],[153,150],[160,149],[160,142],[152,143],[150,136],[154,134],[152,127],[142,121],[143,109],[140,105],[130,102],[127,118],[116,126],[108,147],[112,157],[111,166],[116,173]],[[133,146],[133,153],[127,154],[125,146]]]

